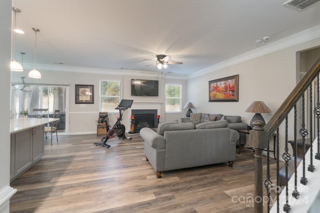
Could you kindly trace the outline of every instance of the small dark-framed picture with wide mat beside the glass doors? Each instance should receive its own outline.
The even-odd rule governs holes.
[[[75,84],[75,103],[93,104],[93,85]]]

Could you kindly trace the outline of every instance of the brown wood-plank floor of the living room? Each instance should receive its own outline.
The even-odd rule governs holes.
[[[45,154],[11,183],[17,193],[11,213],[249,213],[253,204],[253,152],[241,149],[228,163],[162,173],[145,161],[143,141],[110,139],[96,147],[96,135],[58,136],[45,140]],[[265,158],[263,159],[265,163]],[[275,161],[271,160],[271,172]],[[275,181],[272,181],[275,183]],[[266,208],[265,208],[266,209]]]

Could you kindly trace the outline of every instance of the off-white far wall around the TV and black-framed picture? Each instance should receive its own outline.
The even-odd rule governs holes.
[[[32,65],[25,65],[23,76],[27,76],[29,70],[32,69]],[[69,84],[69,134],[85,134],[96,133],[96,120],[99,112],[99,82],[100,80],[116,80],[121,81],[122,98],[132,99],[132,108],[135,108],[137,104],[142,107],[148,104],[156,103],[159,106],[160,122],[180,120],[184,117],[186,110],[182,109],[180,113],[165,114],[165,83],[174,83],[182,85],[182,107],[186,102],[186,80],[181,77],[175,77],[176,79],[170,79],[163,74],[147,74],[145,72],[135,72],[134,75],[128,75],[127,71],[122,70],[96,70],[89,68],[79,68],[81,72],[72,72],[70,68],[63,67],[57,68],[37,65],[37,69],[41,72],[41,79],[26,78],[27,83],[41,83],[41,84]],[[51,69],[51,70],[50,70]],[[76,70],[76,69],[75,69]],[[85,72],[85,73],[84,73]],[[21,73],[12,73],[12,82],[18,82]],[[159,96],[157,97],[143,97],[143,96],[131,96],[131,79],[150,79],[159,81]],[[75,104],[74,103],[74,90],[75,84],[89,84],[94,85],[94,104]],[[151,106],[153,107],[153,106]],[[155,106],[154,106],[155,107]],[[156,108],[157,109],[157,106]],[[109,123],[113,125],[116,121],[118,113],[108,113]],[[131,110],[128,109],[123,113],[123,124],[126,127],[126,132],[129,131]]]

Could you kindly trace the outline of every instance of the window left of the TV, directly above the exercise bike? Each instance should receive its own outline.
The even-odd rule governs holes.
[[[117,112],[120,103],[120,81],[100,81],[100,111]]]

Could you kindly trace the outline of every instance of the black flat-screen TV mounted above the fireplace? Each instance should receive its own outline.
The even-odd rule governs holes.
[[[158,96],[159,81],[131,79],[131,96]]]

